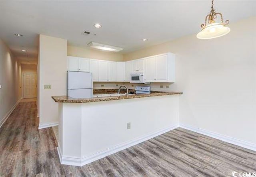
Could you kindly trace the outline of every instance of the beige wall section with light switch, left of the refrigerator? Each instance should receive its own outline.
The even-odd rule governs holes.
[[[51,96],[66,95],[67,40],[40,35],[39,128],[58,123],[58,104]],[[44,85],[52,89],[44,90]]]

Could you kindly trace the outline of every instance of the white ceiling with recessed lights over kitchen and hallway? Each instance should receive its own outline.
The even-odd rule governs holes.
[[[255,16],[255,6],[255,0],[214,1],[230,23]],[[73,46],[86,47],[90,41],[115,45],[128,53],[197,33],[210,7],[211,0],[1,0],[0,38],[23,63],[37,60],[38,34],[68,39]],[[94,28],[95,23],[102,28]],[[82,35],[84,30],[91,34]]]

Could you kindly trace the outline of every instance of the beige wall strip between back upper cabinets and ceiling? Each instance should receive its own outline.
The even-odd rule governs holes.
[[[82,47],[73,46],[68,46],[68,55],[74,57],[84,57],[109,61],[123,61],[123,55],[120,53],[86,49]]]

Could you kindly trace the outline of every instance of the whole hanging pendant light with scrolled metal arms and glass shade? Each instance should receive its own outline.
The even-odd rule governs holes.
[[[213,8],[213,1],[214,0],[212,0],[211,12],[205,17],[204,24],[201,24],[202,30],[196,35],[198,39],[212,39],[226,35],[230,32],[230,28],[226,27],[229,24],[229,20],[226,20],[225,23],[223,22],[222,14],[219,12],[217,13]],[[214,20],[218,15],[221,19],[220,23],[216,23]]]

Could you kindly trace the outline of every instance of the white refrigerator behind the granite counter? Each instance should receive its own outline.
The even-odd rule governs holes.
[[[92,98],[92,73],[67,71],[67,96],[71,98]]]

